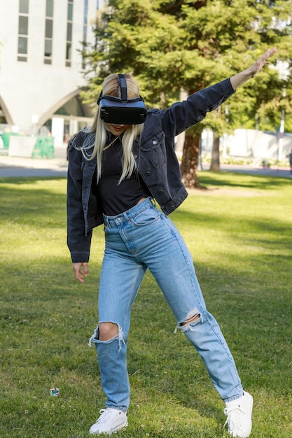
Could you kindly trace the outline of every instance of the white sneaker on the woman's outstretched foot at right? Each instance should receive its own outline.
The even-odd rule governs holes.
[[[253,397],[244,392],[242,397],[232,402],[227,402],[224,414],[227,416],[225,424],[232,437],[247,438],[251,434],[251,412],[253,410]]]

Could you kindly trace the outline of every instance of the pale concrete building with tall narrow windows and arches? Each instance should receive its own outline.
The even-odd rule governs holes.
[[[0,1],[0,132],[49,132],[55,146],[92,120],[82,104],[83,43],[103,0]],[[8,126],[7,126],[8,125]]]

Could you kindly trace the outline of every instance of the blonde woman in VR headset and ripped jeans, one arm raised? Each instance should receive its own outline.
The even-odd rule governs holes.
[[[232,437],[251,433],[253,398],[242,388],[228,345],[204,304],[192,257],[167,215],[187,196],[174,136],[221,105],[275,52],[275,48],[267,50],[249,69],[166,111],[146,113],[134,78],[110,75],[104,80],[92,127],[82,129],[70,143],[68,246],[74,275],[81,283],[88,276],[92,228],[104,223],[106,241],[99,324],[90,339],[97,348],[106,409],[100,411],[91,434],[111,435],[127,426],[130,310],[146,269],[174,312],[177,330],[196,348],[225,402],[228,432]]]

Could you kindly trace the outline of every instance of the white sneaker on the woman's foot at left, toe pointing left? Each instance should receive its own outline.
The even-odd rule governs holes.
[[[127,426],[127,414],[119,409],[107,408],[99,411],[100,417],[90,428],[90,434],[111,435]]]

